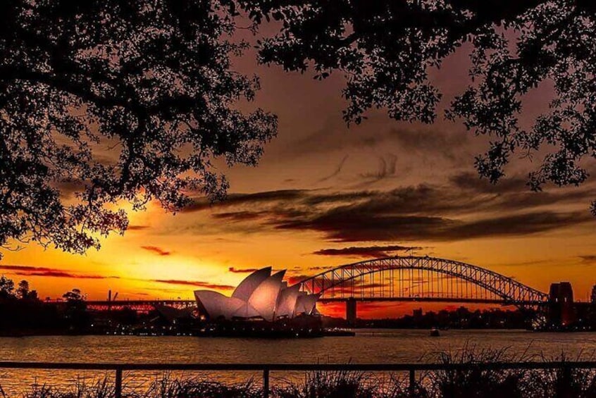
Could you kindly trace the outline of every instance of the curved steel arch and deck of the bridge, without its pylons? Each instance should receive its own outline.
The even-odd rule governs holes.
[[[448,278],[459,279],[468,285],[475,285],[478,289],[492,293],[494,299],[479,297],[458,297],[457,290],[442,294],[434,292],[433,294],[418,295],[418,297],[409,293],[407,297],[396,294],[390,285],[383,286],[383,278],[395,281],[396,271],[399,270],[418,270],[427,273],[437,273]],[[373,280],[374,274],[381,274],[379,278],[380,289],[371,290],[370,294],[361,294],[358,290],[359,282],[365,277]],[[419,274],[420,275],[420,274]],[[421,274],[423,275],[423,273]],[[383,300],[410,300],[410,301],[465,301],[478,303],[499,303],[504,305],[514,305],[521,309],[536,307],[545,304],[548,300],[548,294],[539,290],[523,285],[512,278],[496,273],[492,270],[473,266],[460,261],[447,259],[437,259],[429,256],[393,256],[383,259],[373,259],[351,263],[323,273],[314,275],[299,282],[301,290],[308,293],[320,294],[319,301],[347,301],[356,299],[360,301],[383,301]],[[386,283],[386,282],[385,282]],[[469,287],[468,287],[469,290]],[[461,291],[460,291],[461,293]]]

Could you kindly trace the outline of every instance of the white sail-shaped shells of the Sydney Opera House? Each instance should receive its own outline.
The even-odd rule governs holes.
[[[283,281],[285,270],[271,275],[271,267],[256,270],[244,278],[231,297],[212,290],[196,290],[199,312],[211,320],[280,318],[316,312],[318,294],[300,292],[300,285],[288,287]]]

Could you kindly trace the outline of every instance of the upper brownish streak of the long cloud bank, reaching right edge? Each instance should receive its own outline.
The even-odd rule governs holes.
[[[385,170],[385,173],[380,173],[378,176],[387,173],[388,171]],[[272,218],[275,223],[275,220],[286,218],[311,217],[320,211],[320,209],[313,209],[313,206],[332,206],[330,211],[338,213],[459,218],[464,214],[478,214],[482,211],[502,214],[526,211],[537,206],[589,201],[595,195],[596,189],[589,186],[585,189],[530,192],[525,180],[519,176],[506,178],[499,184],[492,185],[478,178],[475,173],[459,173],[450,179],[449,185],[421,184],[398,187],[389,191],[320,193],[316,190],[294,189],[235,194],[213,208],[226,207],[230,208],[230,211],[216,212],[212,216],[232,221]],[[259,210],[254,210],[252,207],[238,209],[243,205],[252,205],[256,201],[261,203]],[[209,208],[209,205],[198,203],[192,206],[188,211]]]

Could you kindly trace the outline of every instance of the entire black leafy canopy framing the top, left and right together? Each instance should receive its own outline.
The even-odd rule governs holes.
[[[232,68],[248,46],[232,38],[240,13],[255,29],[280,23],[259,42],[259,61],[345,75],[347,123],[370,108],[433,123],[441,93],[428,72],[469,43],[473,82],[445,116],[492,137],[476,159],[480,175],[497,182],[513,154],[540,153],[531,189],[588,178],[592,0],[6,0],[0,246],[82,252],[127,228],[125,202],[177,211],[190,194],[223,197],[213,159],[255,165],[277,129],[271,113],[237,106],[259,88]],[[545,82],[550,108],[523,126],[523,96]]]

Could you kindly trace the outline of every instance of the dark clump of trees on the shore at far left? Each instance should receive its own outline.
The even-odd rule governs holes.
[[[27,280],[15,285],[0,277],[0,335],[61,334],[84,330],[90,320],[85,297],[78,289],[63,294],[63,305],[39,299]]]

